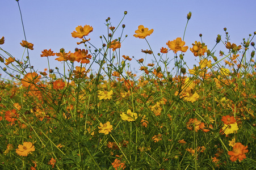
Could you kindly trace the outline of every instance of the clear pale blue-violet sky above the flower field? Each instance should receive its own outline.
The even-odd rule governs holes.
[[[215,45],[218,34],[224,40],[226,27],[230,34],[230,42],[240,45],[242,39],[249,37],[249,33],[256,31],[256,1],[226,0],[226,1],[135,1],[135,0],[20,0],[19,5],[22,11],[24,28],[27,41],[34,44],[34,50],[30,50],[31,64],[35,69],[43,71],[48,68],[47,58],[40,57],[44,49],[52,49],[59,52],[60,48],[65,48],[66,52],[74,52],[75,48],[83,48],[77,45],[80,39],[74,39],[71,33],[78,25],[91,25],[93,32],[86,36],[96,47],[102,46],[100,35],[107,35],[106,19],[111,18],[113,26],[119,24],[125,16],[122,24],[125,24],[124,35],[127,39],[121,44],[120,54],[134,56],[136,59],[144,58],[145,54],[141,49],[149,49],[144,39],[133,36],[139,25],[144,25],[149,29],[154,29],[152,35],[147,37],[153,52],[157,54],[160,48],[166,47],[166,42],[177,37],[183,37],[184,28],[187,22],[187,13],[192,12],[192,17],[187,26],[184,41],[186,45],[192,47],[194,41],[200,41],[199,33],[203,35],[203,41],[208,49]],[[20,20],[18,4],[15,0],[1,0],[1,25],[0,38],[5,37],[5,44],[1,48],[12,54],[13,57],[21,59],[24,48],[19,44],[24,40],[22,22]],[[121,29],[120,29],[121,31]],[[120,36],[116,34],[117,38]],[[225,50],[223,44],[218,44],[216,56],[219,57],[219,50]],[[0,52],[3,54],[3,52]],[[174,53],[170,52],[170,58]],[[62,64],[49,57],[51,68],[62,67]],[[147,63],[153,59],[152,55],[147,56]],[[196,64],[196,58],[188,51],[184,60],[192,68]],[[131,61],[132,66],[139,65]],[[3,65],[1,64],[3,67]],[[173,66],[170,66],[171,68]],[[3,71],[0,70],[0,73]]]

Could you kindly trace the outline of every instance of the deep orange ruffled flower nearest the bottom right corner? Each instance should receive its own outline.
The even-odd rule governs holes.
[[[236,145],[233,147],[233,151],[228,151],[228,155],[230,155],[230,160],[235,162],[237,158],[239,161],[246,158],[245,153],[247,153],[247,146],[242,145],[242,143],[237,142]]]

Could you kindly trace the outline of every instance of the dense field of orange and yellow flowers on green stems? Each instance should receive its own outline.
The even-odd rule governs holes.
[[[146,37],[154,30],[139,25],[133,36],[155,59],[147,63],[120,55],[126,36],[115,32],[124,24],[108,18],[106,25],[99,46],[85,25],[72,32],[79,39],[74,52],[42,51],[62,62],[64,73],[50,63],[36,71],[31,42],[20,42],[27,56],[18,59],[0,37],[0,66],[10,75],[0,82],[1,169],[255,168],[256,32],[236,45],[224,28],[226,36],[216,36],[220,52],[208,49],[202,35],[188,46],[177,37],[153,52]],[[186,55],[200,62],[188,68]]]

